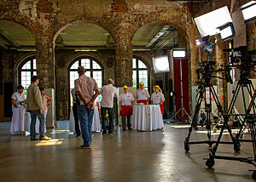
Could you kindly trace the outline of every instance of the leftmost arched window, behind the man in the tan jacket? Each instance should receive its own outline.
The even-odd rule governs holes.
[[[31,56],[23,60],[18,68],[18,84],[24,87],[24,94],[26,88],[31,84],[31,77],[37,75],[37,60],[36,56]]]

